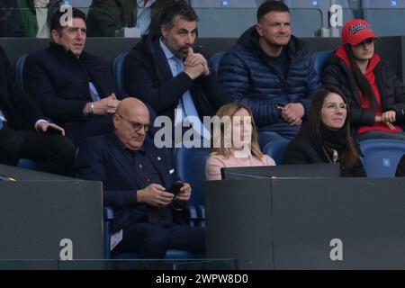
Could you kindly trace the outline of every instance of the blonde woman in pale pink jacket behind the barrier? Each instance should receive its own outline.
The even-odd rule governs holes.
[[[241,103],[229,103],[218,110],[212,130],[212,148],[205,165],[207,180],[220,180],[220,168],[235,166],[274,166],[263,155],[257,142],[257,128],[250,109]]]

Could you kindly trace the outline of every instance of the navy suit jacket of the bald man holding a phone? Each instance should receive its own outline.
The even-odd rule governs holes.
[[[142,149],[156,167],[166,189],[179,180],[172,166],[169,150],[155,148],[149,138],[145,140]],[[114,230],[138,222],[157,222],[159,210],[137,201],[137,191],[150,183],[136,173],[124,146],[115,134],[87,139],[76,157],[76,173],[79,178],[103,182],[104,205],[112,206],[115,210]],[[182,224],[188,220],[187,209],[164,209],[169,210],[176,223]]]

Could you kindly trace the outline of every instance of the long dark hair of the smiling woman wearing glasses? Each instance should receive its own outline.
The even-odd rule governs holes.
[[[313,95],[311,100],[311,109],[308,116],[308,123],[309,129],[312,135],[320,135],[320,125],[322,123],[321,120],[321,110],[325,98],[330,93],[336,93],[340,97],[342,97],[343,102],[347,104],[347,116],[345,120],[345,124],[343,125],[343,129],[346,130],[346,150],[345,150],[345,157],[343,160],[344,165],[347,167],[353,167],[359,161],[360,157],[358,155],[357,149],[353,142],[353,139],[350,135],[350,107],[348,106],[347,99],[340,89],[335,86],[324,86],[317,91],[316,94]]]

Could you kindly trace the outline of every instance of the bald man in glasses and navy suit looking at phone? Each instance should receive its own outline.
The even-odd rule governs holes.
[[[148,108],[135,98],[122,100],[113,126],[114,133],[87,139],[76,158],[77,176],[103,181],[104,204],[116,210],[113,229],[123,231],[112,253],[154,259],[167,249],[202,252],[204,230],[186,225],[191,187],[166,191],[179,178],[167,150],[146,137]]]

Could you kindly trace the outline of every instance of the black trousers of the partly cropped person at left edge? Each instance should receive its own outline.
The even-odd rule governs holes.
[[[73,165],[75,146],[67,137],[34,130],[0,130],[0,163],[17,166],[19,158],[30,158],[40,171],[67,175]]]

